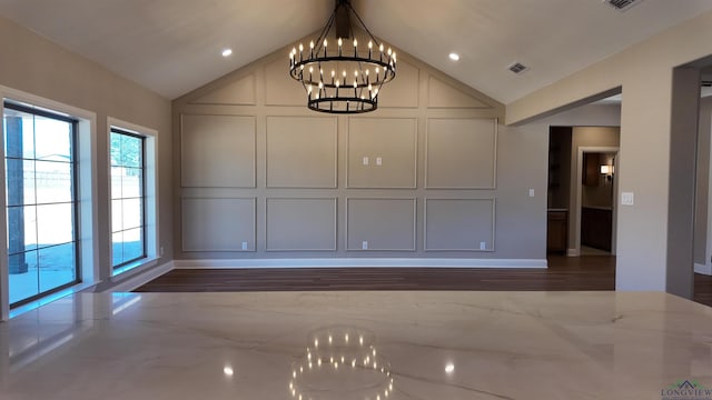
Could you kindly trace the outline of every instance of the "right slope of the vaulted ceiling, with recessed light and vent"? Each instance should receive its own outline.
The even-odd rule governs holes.
[[[503,103],[712,11],[709,0],[639,0],[624,12],[602,0],[372,3],[355,6],[374,32]],[[526,64],[526,73],[512,73],[514,62]]]

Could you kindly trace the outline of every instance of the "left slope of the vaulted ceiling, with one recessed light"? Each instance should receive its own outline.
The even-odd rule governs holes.
[[[168,99],[316,31],[332,10],[333,0],[0,1],[1,17]]]

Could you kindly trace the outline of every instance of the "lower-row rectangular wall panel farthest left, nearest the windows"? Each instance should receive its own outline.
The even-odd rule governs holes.
[[[255,251],[255,198],[184,198],[181,206],[182,251]]]

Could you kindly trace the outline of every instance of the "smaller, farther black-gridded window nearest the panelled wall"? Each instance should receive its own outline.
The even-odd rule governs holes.
[[[146,139],[111,128],[111,260],[115,269],[146,258]]]

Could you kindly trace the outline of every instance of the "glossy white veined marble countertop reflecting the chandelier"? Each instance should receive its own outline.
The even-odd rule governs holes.
[[[712,308],[654,292],[76,294],[0,323],[3,400],[660,400],[685,380],[712,388]]]

